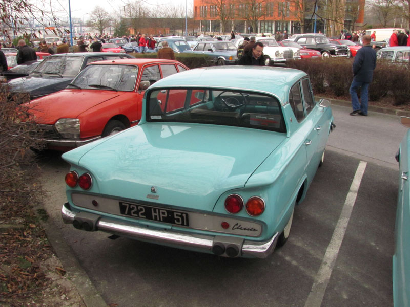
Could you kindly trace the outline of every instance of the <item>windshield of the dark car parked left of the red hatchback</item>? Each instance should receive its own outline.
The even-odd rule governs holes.
[[[40,74],[56,74],[61,76],[76,76],[81,68],[82,56],[48,56],[34,72]]]

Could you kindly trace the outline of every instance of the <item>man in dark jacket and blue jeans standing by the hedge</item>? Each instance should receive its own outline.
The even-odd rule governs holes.
[[[353,112],[350,115],[367,116],[368,85],[373,80],[373,71],[376,68],[376,51],[370,45],[370,35],[363,36],[363,47],[360,48],[353,62],[353,81],[350,85]],[[360,103],[357,89],[361,87]]]

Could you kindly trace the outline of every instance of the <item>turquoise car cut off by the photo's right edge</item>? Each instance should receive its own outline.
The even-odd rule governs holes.
[[[410,128],[410,118],[401,117],[403,126]],[[395,307],[410,306],[410,130],[404,136],[396,159],[400,179],[397,198],[395,253],[393,255],[393,301]]]

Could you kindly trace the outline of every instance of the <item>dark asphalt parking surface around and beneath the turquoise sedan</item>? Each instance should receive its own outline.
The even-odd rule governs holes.
[[[370,118],[370,117],[369,117]],[[392,150],[396,150],[393,149]],[[222,258],[108,239],[64,225],[59,158],[44,166],[46,208],[107,304],[118,306],[392,306],[398,170],[329,147],[291,236],[267,259]],[[52,186],[58,185],[58,189]],[[70,272],[69,272],[70,273]]]

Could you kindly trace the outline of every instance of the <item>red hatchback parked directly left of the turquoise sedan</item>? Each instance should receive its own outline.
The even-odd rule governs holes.
[[[26,103],[48,149],[73,147],[135,126],[153,83],[188,68],[178,61],[121,59],[93,62],[65,90]]]

